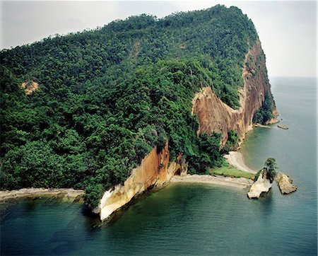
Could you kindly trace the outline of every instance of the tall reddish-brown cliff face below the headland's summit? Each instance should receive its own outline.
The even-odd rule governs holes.
[[[213,93],[211,87],[202,88],[200,93],[196,93],[193,99],[192,114],[197,115],[199,120],[198,134],[219,132],[222,134],[222,143],[225,144],[228,139],[228,131],[235,129],[240,139],[244,139],[245,133],[252,129],[254,112],[263,104],[266,92],[272,99],[273,114],[278,115],[271,95],[264,52],[261,50],[259,40],[245,57],[242,76],[244,88],[239,89],[239,110],[234,110],[223,103]],[[271,122],[276,122],[276,118]]]

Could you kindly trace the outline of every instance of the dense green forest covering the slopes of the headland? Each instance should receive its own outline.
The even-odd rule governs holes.
[[[1,51],[1,189],[75,187],[95,206],[147,153],[169,142],[190,173],[221,165],[220,134],[196,136],[203,86],[239,107],[257,40],[236,7],[133,16]],[[21,83],[38,83],[26,94]],[[225,149],[235,144],[230,132]]]

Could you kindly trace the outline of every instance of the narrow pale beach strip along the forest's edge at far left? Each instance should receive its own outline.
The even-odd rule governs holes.
[[[35,198],[42,196],[56,196],[61,199],[74,199],[78,201],[84,194],[84,190],[74,190],[71,188],[23,188],[20,190],[4,190],[0,191],[0,202],[4,202],[7,199],[18,199],[18,198]]]

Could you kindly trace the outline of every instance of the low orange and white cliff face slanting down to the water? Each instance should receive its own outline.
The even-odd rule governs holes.
[[[153,185],[163,185],[177,171],[184,173],[186,166],[169,162],[168,145],[158,153],[153,149],[134,169],[124,185],[117,185],[108,190],[100,200],[100,219],[107,219],[110,214],[128,203],[134,196],[141,194]]]

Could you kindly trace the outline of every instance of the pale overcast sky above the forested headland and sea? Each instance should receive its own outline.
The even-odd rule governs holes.
[[[252,19],[269,76],[317,76],[316,1],[12,1],[1,0],[1,49],[49,35],[93,29],[148,13],[237,6]]]

